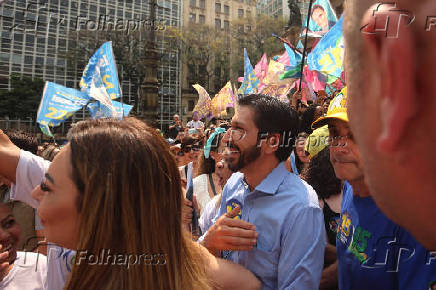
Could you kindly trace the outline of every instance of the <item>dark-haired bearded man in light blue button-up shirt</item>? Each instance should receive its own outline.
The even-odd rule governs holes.
[[[279,100],[249,95],[238,100],[223,137],[233,171],[223,189],[216,223],[200,238],[251,270],[263,289],[318,289],[325,230],[315,191],[286,170],[297,115]]]

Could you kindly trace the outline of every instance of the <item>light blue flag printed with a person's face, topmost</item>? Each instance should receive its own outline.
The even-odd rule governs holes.
[[[310,17],[309,29],[307,29],[307,17]],[[338,21],[329,0],[315,0],[309,15],[302,19],[302,35],[309,32],[310,36],[326,34]]]

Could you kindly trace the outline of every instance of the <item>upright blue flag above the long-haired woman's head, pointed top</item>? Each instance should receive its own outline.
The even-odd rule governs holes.
[[[112,100],[121,97],[112,42],[105,42],[89,59],[80,80],[81,91],[101,103],[102,116],[115,113]]]

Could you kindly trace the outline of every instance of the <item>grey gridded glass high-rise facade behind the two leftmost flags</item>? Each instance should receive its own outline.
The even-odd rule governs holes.
[[[68,57],[77,41],[72,34],[112,29],[127,35],[156,29],[160,54],[159,121],[161,126],[167,124],[172,115],[180,111],[181,63],[178,51],[164,45],[165,29],[181,26],[182,3],[181,0],[156,1],[154,21],[150,19],[152,1],[149,0],[6,1],[0,6],[0,89],[11,88],[12,74],[78,88],[82,71],[94,51],[83,51],[71,65]],[[121,80],[126,79],[120,65],[118,73]],[[138,85],[130,81],[122,81],[120,85],[124,102],[138,102]],[[76,114],[75,118],[83,118],[83,115],[83,112]]]

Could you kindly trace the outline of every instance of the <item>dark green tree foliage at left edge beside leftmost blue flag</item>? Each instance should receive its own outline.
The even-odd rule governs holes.
[[[36,119],[36,113],[44,90],[41,79],[13,74],[11,91],[0,91],[0,118]]]

